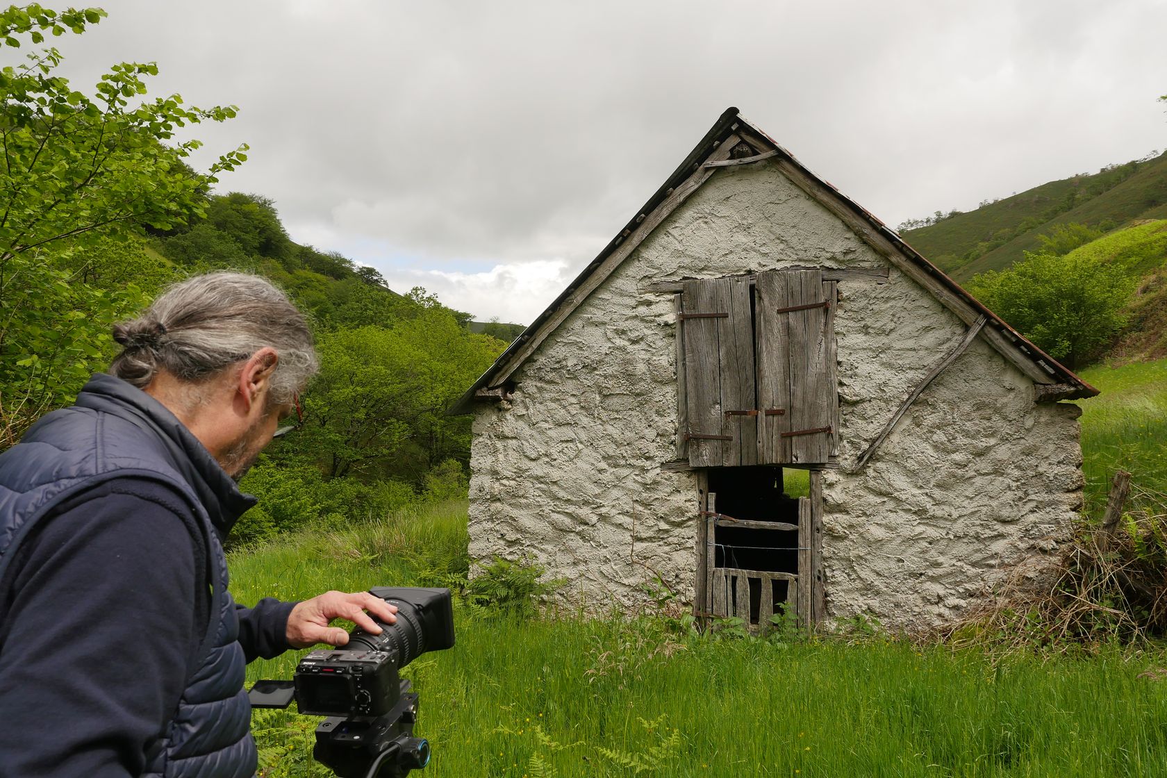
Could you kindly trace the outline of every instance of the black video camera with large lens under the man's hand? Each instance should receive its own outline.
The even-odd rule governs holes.
[[[449,589],[375,587],[397,605],[397,622],[380,635],[356,629],[343,649],[306,654],[292,681],[257,681],[254,708],[286,708],[328,716],[316,727],[312,756],[341,778],[400,778],[426,766],[429,743],[413,736],[418,695],[398,674],[427,651],[454,645]]]

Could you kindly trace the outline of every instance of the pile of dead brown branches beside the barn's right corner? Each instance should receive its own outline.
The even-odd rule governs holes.
[[[1167,637],[1167,495],[1130,491],[1130,474],[1116,475],[1100,520],[1084,520],[1060,558],[1019,568],[939,637],[1061,653]]]

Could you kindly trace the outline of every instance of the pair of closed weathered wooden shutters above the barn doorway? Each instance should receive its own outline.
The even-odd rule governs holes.
[[[684,282],[678,453],[691,467],[838,453],[834,299],[817,269]]]

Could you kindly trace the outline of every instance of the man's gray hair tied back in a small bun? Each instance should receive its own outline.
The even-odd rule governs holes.
[[[271,401],[287,404],[317,370],[303,315],[266,279],[209,273],[169,287],[139,318],[113,327],[110,373],[145,388],[159,369],[201,383],[264,346],[279,355]]]

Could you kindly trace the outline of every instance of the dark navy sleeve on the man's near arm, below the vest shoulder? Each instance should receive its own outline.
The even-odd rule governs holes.
[[[5,575],[0,776],[138,776],[174,714],[197,645],[194,541],[173,492],[128,491],[44,519]]]

